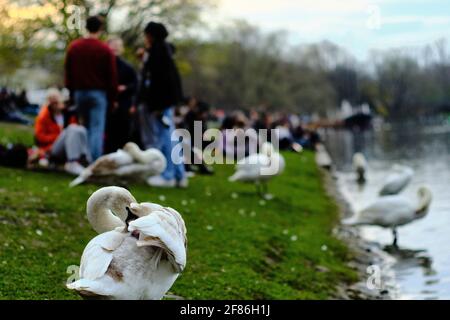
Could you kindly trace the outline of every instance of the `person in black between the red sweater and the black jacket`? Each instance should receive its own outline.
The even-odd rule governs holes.
[[[111,153],[122,148],[131,138],[131,123],[136,112],[134,107],[138,79],[136,71],[125,61],[123,41],[120,38],[110,38],[108,45],[116,55],[119,86],[118,108],[110,109],[106,122],[105,153]]]

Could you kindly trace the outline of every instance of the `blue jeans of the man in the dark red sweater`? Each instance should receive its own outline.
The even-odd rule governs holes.
[[[95,160],[103,153],[108,99],[101,90],[77,90],[74,92],[80,123],[88,128],[89,149]]]

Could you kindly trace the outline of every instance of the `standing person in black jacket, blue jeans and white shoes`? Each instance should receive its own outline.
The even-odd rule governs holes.
[[[172,155],[175,147],[171,140],[175,130],[173,107],[183,97],[173,47],[166,41],[169,33],[161,23],[150,22],[144,35],[147,52],[138,95],[142,143],[145,148],[160,149],[167,159],[162,175],[150,177],[147,182],[155,187],[187,187],[182,156]]]

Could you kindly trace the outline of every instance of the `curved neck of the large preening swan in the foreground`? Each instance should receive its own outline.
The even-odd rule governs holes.
[[[118,192],[116,189],[100,189],[88,200],[86,208],[88,220],[98,233],[125,227],[126,216],[121,219],[114,215],[112,211],[124,215],[126,214],[126,207],[132,202],[136,202],[136,200],[128,192],[125,194],[124,192]]]

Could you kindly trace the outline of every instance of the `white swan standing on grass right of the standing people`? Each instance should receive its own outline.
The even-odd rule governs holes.
[[[238,161],[236,172],[229,177],[229,181],[241,181],[254,183],[259,195],[270,198],[267,194],[267,182],[275,176],[280,175],[285,167],[285,161],[273,145],[264,142],[260,153],[252,154]],[[263,190],[260,190],[262,186]]]

